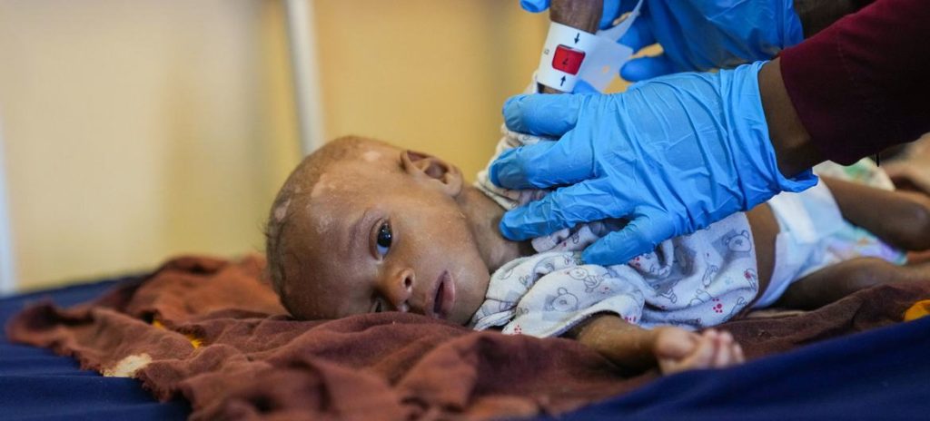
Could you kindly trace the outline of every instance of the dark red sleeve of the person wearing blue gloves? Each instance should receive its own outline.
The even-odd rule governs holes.
[[[930,132],[930,0],[879,0],[781,54],[788,95],[827,159]]]

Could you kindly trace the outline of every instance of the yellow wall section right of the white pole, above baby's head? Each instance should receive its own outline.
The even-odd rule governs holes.
[[[327,136],[428,151],[473,178],[499,138],[501,104],[538,64],[547,16],[515,0],[315,5]]]

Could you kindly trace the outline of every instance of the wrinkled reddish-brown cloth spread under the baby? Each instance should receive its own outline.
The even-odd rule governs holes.
[[[183,396],[192,419],[558,414],[658,376],[625,375],[575,341],[479,333],[413,314],[294,321],[261,281],[263,265],[259,257],[178,258],[85,305],[34,305],[7,333],[86,369],[133,375],[158,399]],[[803,315],[724,328],[757,358],[898,322],[928,297],[930,282],[886,285]],[[203,345],[195,349],[191,337]]]

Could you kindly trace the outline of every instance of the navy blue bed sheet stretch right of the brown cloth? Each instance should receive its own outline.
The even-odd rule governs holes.
[[[930,317],[661,378],[558,419],[928,420]]]

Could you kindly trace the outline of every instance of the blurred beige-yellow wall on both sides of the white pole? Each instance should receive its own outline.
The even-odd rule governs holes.
[[[327,138],[383,138],[466,174],[548,24],[515,0],[314,6]],[[283,24],[273,0],[0,0],[20,289],[261,250],[299,160]]]

